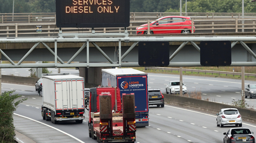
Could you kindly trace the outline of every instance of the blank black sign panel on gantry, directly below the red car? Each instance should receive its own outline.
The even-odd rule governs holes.
[[[169,65],[169,42],[145,41],[139,42],[139,65],[140,66],[168,66]]]

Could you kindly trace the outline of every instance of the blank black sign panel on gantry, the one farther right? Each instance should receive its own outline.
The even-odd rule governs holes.
[[[227,66],[231,64],[230,41],[201,41],[200,64],[204,66]]]

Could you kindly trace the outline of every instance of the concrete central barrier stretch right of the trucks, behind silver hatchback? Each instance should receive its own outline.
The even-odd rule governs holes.
[[[223,108],[236,108],[239,110],[244,121],[256,122],[256,111],[244,109],[227,104],[216,103],[212,101],[205,101],[201,99],[182,97],[179,95],[164,94],[164,100],[168,104],[177,105],[191,109],[199,109],[201,111],[211,112],[217,114]]]

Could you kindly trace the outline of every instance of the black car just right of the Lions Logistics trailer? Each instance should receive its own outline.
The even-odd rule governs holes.
[[[157,105],[157,107],[164,107],[163,94],[159,89],[148,90],[149,105]]]

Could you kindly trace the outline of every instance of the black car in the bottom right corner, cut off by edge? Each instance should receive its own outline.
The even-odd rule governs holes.
[[[255,143],[253,132],[248,128],[231,128],[223,133],[224,143]]]

